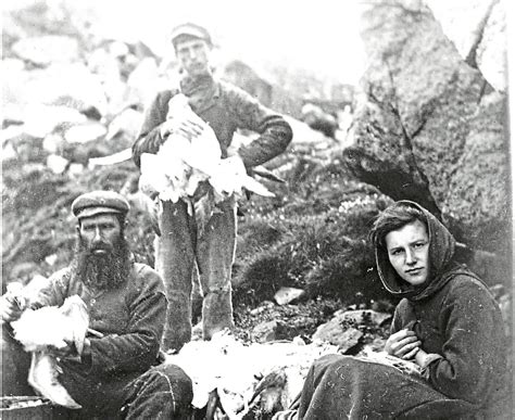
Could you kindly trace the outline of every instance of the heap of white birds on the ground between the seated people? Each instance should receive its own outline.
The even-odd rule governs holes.
[[[230,420],[242,420],[254,405],[267,413],[288,407],[302,390],[314,360],[337,353],[329,343],[292,342],[244,344],[227,331],[210,341],[186,343],[178,354],[166,355],[191,378],[192,406],[202,409],[216,392]]]

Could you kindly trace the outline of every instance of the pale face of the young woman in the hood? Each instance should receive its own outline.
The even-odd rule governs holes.
[[[397,273],[413,285],[429,278],[429,236],[420,220],[392,230],[386,238],[388,258]]]

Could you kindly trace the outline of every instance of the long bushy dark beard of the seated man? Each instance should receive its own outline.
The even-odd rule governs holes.
[[[115,289],[123,284],[130,273],[131,258],[127,241],[121,234],[112,249],[101,244],[100,247],[104,253],[96,255],[95,249],[88,249],[79,234],[72,262],[73,275],[89,289]]]

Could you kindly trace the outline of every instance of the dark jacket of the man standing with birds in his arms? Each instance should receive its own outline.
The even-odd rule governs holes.
[[[193,112],[213,128],[222,157],[227,157],[227,149],[237,129],[260,133],[258,139],[238,151],[247,168],[279,155],[291,141],[291,127],[285,118],[243,90],[211,77],[184,79],[180,90],[160,92],[147,110],[140,135],[133,145],[133,157],[138,167],[141,154],[156,153],[163,142],[160,125],[166,119],[169,99],[179,91],[190,99]]]

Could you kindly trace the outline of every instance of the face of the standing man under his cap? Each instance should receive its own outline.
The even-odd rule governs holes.
[[[210,52],[211,47],[203,39],[178,40],[175,46],[181,67],[192,77],[210,74]]]

